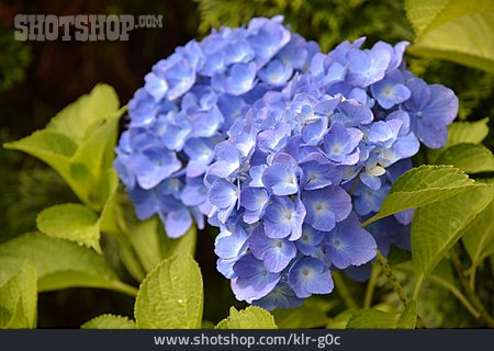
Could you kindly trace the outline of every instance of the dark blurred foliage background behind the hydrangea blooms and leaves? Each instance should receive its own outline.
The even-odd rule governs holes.
[[[164,27],[138,29],[128,42],[26,42],[13,41],[16,13],[68,14],[161,14]],[[29,0],[0,2],[0,143],[19,139],[43,127],[49,117],[96,83],[113,86],[126,103],[142,86],[144,75],[159,58],[192,37],[206,34],[221,24],[237,26],[256,15],[285,15],[287,22],[301,35],[317,41],[324,52],[344,39],[368,36],[371,45],[379,39],[390,43],[413,41],[403,1],[395,0],[195,0],[136,2],[130,0],[76,0],[71,2]],[[460,118],[468,121],[494,116],[494,76],[473,68],[436,59],[408,56],[411,69],[429,83],[440,82],[453,89],[460,99]],[[490,122],[491,131],[493,120]],[[492,149],[494,138],[486,138]],[[35,230],[35,217],[44,207],[77,202],[60,177],[34,158],[0,150],[0,242],[15,235]],[[43,184],[43,186],[40,186]],[[243,308],[232,296],[228,283],[216,272],[212,237],[199,234],[198,257],[204,279],[204,318],[214,324],[228,313],[229,306]],[[103,246],[112,252],[115,242],[103,237]],[[461,252],[460,252],[461,253]],[[462,252],[464,254],[464,252]],[[463,257],[461,257],[464,259]],[[494,293],[493,268],[484,265],[478,281],[485,282],[478,292],[487,310],[494,310],[490,295]],[[406,275],[398,276],[405,281]],[[136,283],[127,274],[128,283]],[[355,295],[362,285],[347,281]],[[397,305],[394,293],[381,274],[377,282],[377,299],[386,306]],[[327,302],[329,315],[336,316],[347,299],[336,290]],[[79,327],[90,318],[113,313],[133,315],[133,299],[119,293],[70,288],[43,293],[38,302],[40,327]],[[428,327],[478,326],[463,307],[442,288],[426,286],[422,308]]]

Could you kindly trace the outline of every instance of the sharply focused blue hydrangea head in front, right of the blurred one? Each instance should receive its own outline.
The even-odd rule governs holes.
[[[427,86],[402,64],[406,43],[345,42],[316,54],[307,73],[269,91],[216,145],[204,183],[212,205],[217,269],[240,301],[294,307],[333,290],[330,270],[349,270],[409,246],[407,211],[361,228],[419,140],[446,141],[456,116],[451,90]],[[446,133],[446,137],[445,137]],[[384,230],[382,230],[385,227]]]

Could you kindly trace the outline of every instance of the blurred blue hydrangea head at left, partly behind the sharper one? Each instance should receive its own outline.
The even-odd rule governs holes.
[[[128,103],[114,163],[139,219],[158,214],[172,238],[192,218],[202,228],[210,212],[202,176],[214,146],[254,101],[307,70],[318,52],[276,16],[223,27],[158,61]]]

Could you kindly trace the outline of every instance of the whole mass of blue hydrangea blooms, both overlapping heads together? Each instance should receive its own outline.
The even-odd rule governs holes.
[[[378,249],[409,249],[413,211],[361,223],[420,141],[445,145],[458,110],[451,90],[406,69],[406,42],[322,54],[281,20],[222,29],[159,61],[128,104],[115,161],[138,217],[158,214],[170,237],[206,215],[217,270],[267,309],[330,293],[335,270],[366,280]]]

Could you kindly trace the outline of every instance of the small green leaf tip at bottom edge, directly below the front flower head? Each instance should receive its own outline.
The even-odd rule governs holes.
[[[229,308],[229,316],[217,324],[215,329],[277,329],[272,315],[257,306],[237,310]]]

